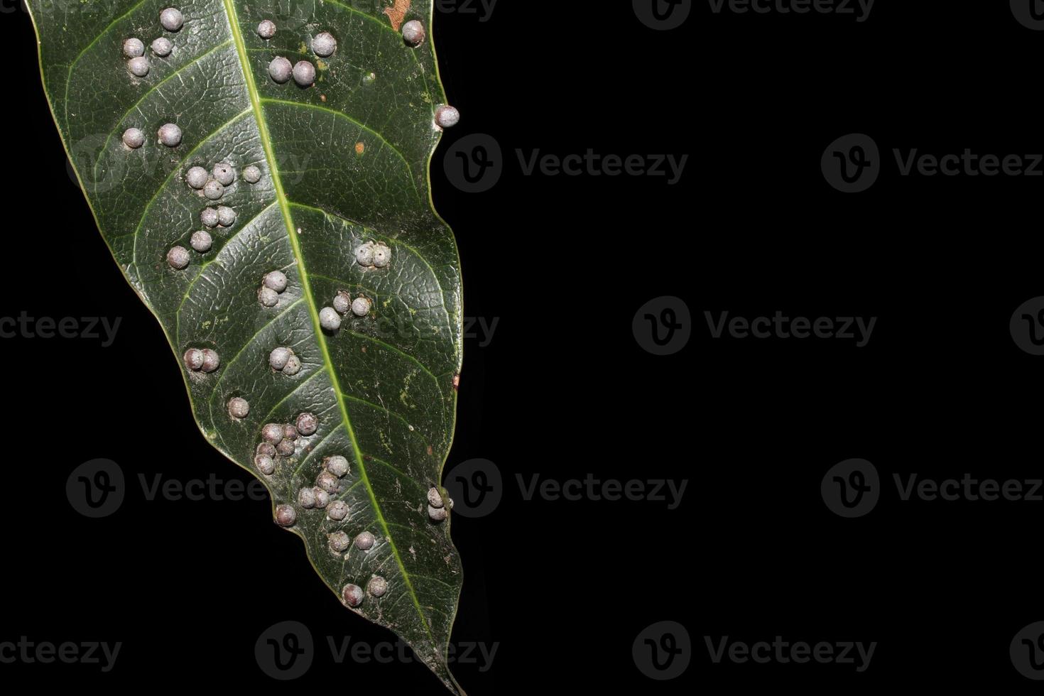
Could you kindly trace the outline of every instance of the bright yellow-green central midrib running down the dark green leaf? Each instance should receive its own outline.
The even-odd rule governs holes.
[[[334,398],[337,400],[337,407],[340,410],[345,431],[348,433],[349,439],[352,441],[352,451],[355,455],[356,465],[359,470],[359,478],[362,481],[363,486],[366,488],[366,495],[370,496],[370,503],[374,508],[377,522],[380,524],[381,530],[384,532],[384,538],[387,539],[388,546],[392,548],[392,554],[395,557],[396,563],[399,566],[399,572],[402,575],[403,583],[406,585],[406,590],[409,592],[413,606],[417,608],[417,614],[421,619],[421,625],[424,626],[424,631],[428,635],[432,645],[437,647],[437,642],[435,641],[434,635],[431,634],[431,627],[428,625],[428,621],[421,608],[417,592],[413,590],[413,583],[409,579],[409,573],[406,572],[406,568],[402,562],[402,556],[399,554],[399,549],[396,548],[395,542],[392,539],[392,533],[390,530],[388,530],[387,522],[385,522],[384,514],[381,512],[380,505],[377,503],[377,497],[374,495],[373,486],[370,485],[370,479],[366,476],[366,469],[362,463],[362,452],[359,449],[358,439],[352,429],[352,421],[348,416],[348,408],[345,406],[345,400],[342,397],[343,392],[341,391],[340,383],[337,379],[337,373],[333,367],[333,360],[330,358],[330,351],[327,346],[326,335],[323,333],[322,326],[319,325],[318,310],[316,309],[315,298],[312,295],[311,285],[308,281],[308,271],[305,268],[304,255],[301,250],[301,242],[298,239],[296,226],[293,224],[293,217],[290,214],[289,200],[286,197],[286,193],[283,191],[283,182],[280,178],[276,153],[272,149],[271,139],[268,135],[268,123],[266,122],[264,112],[261,109],[261,96],[258,94],[257,85],[254,81],[254,72],[251,70],[250,59],[246,54],[246,45],[243,42],[243,35],[240,31],[239,16],[236,13],[236,7],[232,0],[222,0],[222,3],[224,4],[226,19],[229,22],[232,39],[236,44],[236,54],[239,57],[239,67],[243,72],[246,91],[250,94],[251,107],[254,111],[254,118],[257,121],[258,131],[261,136],[261,146],[264,149],[265,159],[268,161],[268,171],[270,172],[272,184],[276,188],[276,199],[279,202],[280,211],[283,214],[283,221],[286,224],[286,233],[290,239],[290,246],[293,249],[293,256],[298,261],[298,274],[301,277],[305,304],[308,306],[308,313],[312,319],[312,330],[315,334],[316,341],[318,342],[319,350],[323,353],[323,361],[326,364],[327,373],[330,375],[330,382],[334,389]]]

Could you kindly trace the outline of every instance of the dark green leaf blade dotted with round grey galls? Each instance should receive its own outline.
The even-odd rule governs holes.
[[[179,358],[199,429],[264,482],[274,507],[298,508],[290,529],[338,599],[346,583],[387,580],[386,594],[367,595],[353,610],[394,630],[462,693],[447,666],[460,563],[449,522],[432,522],[427,510],[452,440],[461,361],[459,260],[428,186],[441,135],[433,114],[445,96],[430,30],[417,48],[399,31],[411,19],[430,28],[431,0],[397,0],[398,11],[382,11],[393,4],[382,2],[28,4],[70,160],[113,257]],[[160,24],[172,4],[185,18],[176,31]],[[278,27],[269,41],[256,30],[263,19]],[[326,58],[310,51],[319,31],[337,40]],[[122,54],[132,37],[146,47],[143,77]],[[160,37],[173,44],[166,57],[149,48]],[[315,83],[275,82],[268,64],[276,56],[312,62]],[[158,141],[164,123],[182,129],[176,147]],[[128,127],[144,131],[142,147],[123,144]],[[185,173],[220,162],[237,178],[210,201]],[[256,184],[243,179],[250,165],[262,172]],[[205,229],[200,212],[218,205],[235,210],[235,223],[209,231],[209,251],[192,250],[192,233]],[[367,241],[390,248],[387,267],[356,262],[355,249]],[[182,270],[167,263],[175,245],[191,255]],[[269,308],[258,290],[272,270],[289,285]],[[318,312],[339,291],[370,298],[372,310],[324,332]],[[269,366],[277,346],[293,350],[300,373]],[[181,358],[193,347],[217,352],[220,367],[187,369]],[[245,418],[230,415],[233,397],[248,401]],[[279,457],[275,474],[259,474],[262,427],[303,412],[318,417],[318,431]],[[350,461],[331,496],[349,504],[342,522],[298,504],[299,490],[314,486],[325,458],[337,454]],[[370,531],[377,544],[336,553],[328,535],[337,530],[352,538]]]

